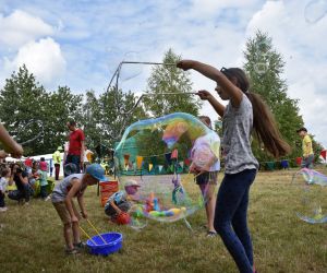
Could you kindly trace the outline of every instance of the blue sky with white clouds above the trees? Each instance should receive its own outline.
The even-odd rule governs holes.
[[[282,79],[304,126],[327,147],[327,0],[1,0],[0,88],[25,63],[47,91],[101,94],[121,60],[160,62],[169,48],[217,68],[242,67],[258,29],[286,61]],[[121,87],[140,95],[149,73],[126,66]],[[194,90],[214,91],[196,72],[191,79]],[[208,103],[201,114],[217,117]]]

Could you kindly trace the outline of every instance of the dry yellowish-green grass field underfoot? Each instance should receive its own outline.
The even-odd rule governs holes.
[[[259,173],[252,187],[249,222],[258,272],[327,272],[327,225],[295,216],[293,173]],[[204,210],[189,217],[193,232],[183,222],[154,221],[136,232],[108,221],[96,187],[87,189],[85,201],[98,229],[123,234],[120,252],[66,257],[61,222],[50,202],[32,200],[20,206],[7,199],[9,210],[0,213],[0,272],[237,272],[221,239],[205,236]],[[94,234],[85,221],[81,226]]]

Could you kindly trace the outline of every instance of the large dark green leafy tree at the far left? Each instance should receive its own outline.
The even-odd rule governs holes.
[[[32,120],[40,120],[44,133],[24,146],[24,155],[52,153],[65,140],[65,122],[77,117],[82,96],[72,95],[69,87],[59,87],[47,93],[25,66],[5,80],[0,92],[1,121],[11,134],[17,133],[17,141],[33,139],[40,132],[35,126],[26,130]]]

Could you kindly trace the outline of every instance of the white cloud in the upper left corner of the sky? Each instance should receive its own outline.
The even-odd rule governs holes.
[[[53,28],[41,19],[15,10],[9,16],[0,14],[1,47],[17,49],[24,44],[53,34]]]

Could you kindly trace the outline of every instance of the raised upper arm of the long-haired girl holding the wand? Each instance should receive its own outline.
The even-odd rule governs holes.
[[[221,73],[218,69],[202,63],[199,61],[193,60],[182,60],[178,62],[177,67],[183,70],[194,69],[197,72],[205,75],[206,78],[209,78],[213,81],[217,82],[217,84],[229,94],[232,106],[240,106],[243,97],[243,92],[238,86],[235,86],[230,80],[228,80],[226,75]]]

